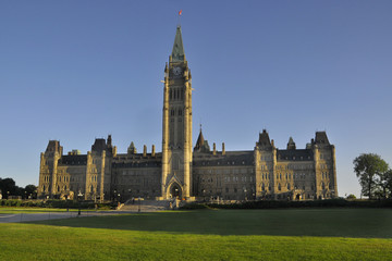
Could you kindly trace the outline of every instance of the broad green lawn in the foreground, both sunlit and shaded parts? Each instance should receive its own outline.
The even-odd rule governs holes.
[[[392,210],[203,210],[0,224],[0,260],[391,260]]]

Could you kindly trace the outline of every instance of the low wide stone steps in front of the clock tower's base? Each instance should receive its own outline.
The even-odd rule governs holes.
[[[156,212],[170,209],[169,200],[127,200],[119,210],[124,212]]]

